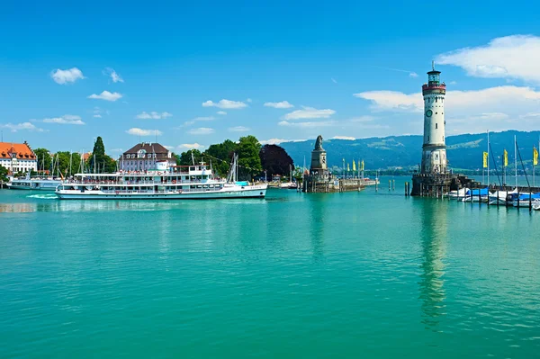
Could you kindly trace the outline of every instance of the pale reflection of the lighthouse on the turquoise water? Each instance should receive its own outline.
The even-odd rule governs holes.
[[[447,209],[440,202],[426,200],[421,207],[421,257],[420,300],[422,323],[437,330],[439,317],[445,315],[446,292],[443,275],[446,256]]]

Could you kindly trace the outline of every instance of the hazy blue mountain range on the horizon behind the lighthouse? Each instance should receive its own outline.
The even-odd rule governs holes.
[[[540,131],[507,130],[491,132],[490,163],[494,160],[498,166],[502,165],[503,150],[509,152],[509,166],[514,163],[514,136],[517,137],[518,148],[525,166],[532,165],[533,146],[538,148]],[[446,138],[446,153],[449,166],[455,169],[482,168],[482,152],[488,148],[487,133],[463,134],[448,136]],[[306,166],[310,166],[311,150],[315,146],[315,139],[305,141],[282,142],[280,144],[289,156],[293,157],[294,164],[302,166],[304,157]],[[386,168],[417,168],[421,160],[422,136],[390,136],[369,139],[326,139],[323,148],[327,151],[329,167],[347,163],[353,159],[365,161],[365,169]],[[494,157],[494,158],[493,158]],[[518,166],[521,166],[518,162]]]

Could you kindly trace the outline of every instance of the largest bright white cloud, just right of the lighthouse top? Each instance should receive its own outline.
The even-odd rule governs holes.
[[[469,76],[520,79],[540,84],[540,37],[511,35],[487,45],[438,55],[436,62],[462,67]]]

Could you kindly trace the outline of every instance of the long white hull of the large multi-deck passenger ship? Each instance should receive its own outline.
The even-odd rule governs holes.
[[[220,200],[232,198],[265,198],[266,185],[254,185],[243,189],[223,188],[220,191],[168,192],[168,193],[103,193],[102,191],[58,190],[60,200]]]

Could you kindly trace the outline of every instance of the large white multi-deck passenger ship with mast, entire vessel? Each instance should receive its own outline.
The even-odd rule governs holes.
[[[235,156],[227,179],[215,178],[203,162],[171,166],[157,162],[157,169],[115,174],[76,174],[56,190],[60,200],[198,200],[264,198],[266,184],[236,180]]]

